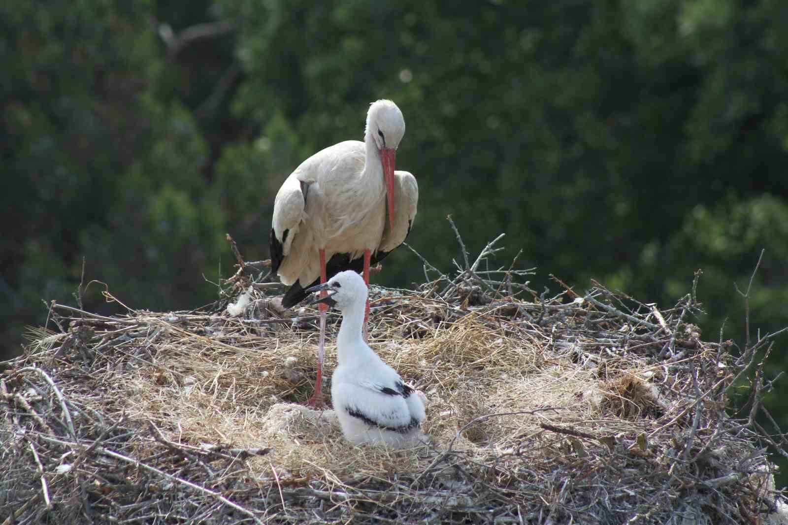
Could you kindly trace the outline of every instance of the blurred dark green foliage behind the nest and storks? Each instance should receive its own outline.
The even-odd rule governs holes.
[[[2,349],[42,300],[73,301],[83,260],[130,307],[213,300],[225,232],[266,258],[284,177],[360,139],[379,98],[405,115],[409,242],[436,266],[459,255],[452,214],[470,251],[507,233],[500,263],[522,248],[535,287],[596,278],[671,304],[701,268],[704,337],[727,318],[741,343],[733,284],[766,248],[752,324],[778,330],[786,27],[784,0],[0,2]],[[400,250],[376,279],[421,265]],[[87,308],[111,311],[102,289]],[[784,427],[786,385],[768,399]]]

